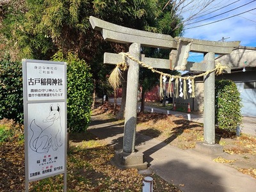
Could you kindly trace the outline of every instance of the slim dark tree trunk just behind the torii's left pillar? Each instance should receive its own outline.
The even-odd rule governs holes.
[[[116,115],[117,120],[124,119],[125,103],[126,103],[126,88],[127,88],[127,70],[123,72],[124,81],[122,81],[122,102],[120,111]]]

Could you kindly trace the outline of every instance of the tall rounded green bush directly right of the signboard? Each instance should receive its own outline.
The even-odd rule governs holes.
[[[93,83],[90,67],[72,52],[69,52],[67,58],[64,58],[59,51],[53,56],[53,59],[67,62],[68,131],[85,131],[90,122],[92,105]]]

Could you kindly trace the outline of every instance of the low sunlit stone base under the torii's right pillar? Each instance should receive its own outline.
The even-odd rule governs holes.
[[[209,145],[204,142],[196,143],[195,150],[210,156],[218,156],[224,153],[223,147],[221,145],[219,144]]]

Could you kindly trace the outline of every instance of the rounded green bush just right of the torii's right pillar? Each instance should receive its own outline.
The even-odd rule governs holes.
[[[220,129],[236,131],[241,124],[241,97],[236,84],[228,79],[215,82],[215,123]]]

